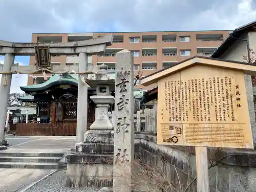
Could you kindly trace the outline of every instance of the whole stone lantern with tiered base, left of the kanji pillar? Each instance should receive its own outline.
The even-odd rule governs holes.
[[[75,155],[69,160],[77,163],[77,180],[82,187],[111,187],[113,184],[114,126],[108,111],[115,101],[110,95],[115,89],[115,79],[107,74],[107,69],[108,66],[102,64],[98,74],[88,74],[85,80],[91,88],[96,88],[97,95],[90,97],[96,103],[95,121],[84,134],[84,141],[76,143]]]

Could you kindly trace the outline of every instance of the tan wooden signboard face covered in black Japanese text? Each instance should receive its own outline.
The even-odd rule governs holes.
[[[198,65],[158,90],[158,144],[253,148],[243,71]]]

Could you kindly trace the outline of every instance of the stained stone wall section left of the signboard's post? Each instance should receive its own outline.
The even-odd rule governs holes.
[[[180,191],[180,189],[184,191],[188,183],[196,177],[196,172],[190,165],[190,161],[195,163],[195,157],[188,152],[158,145],[154,135],[135,134],[135,157],[156,172],[154,173],[156,178],[147,176],[143,178],[149,183],[156,183],[155,187],[165,185],[166,189],[166,185],[173,185],[170,187],[171,190],[167,191]],[[186,191],[196,191],[196,182]]]

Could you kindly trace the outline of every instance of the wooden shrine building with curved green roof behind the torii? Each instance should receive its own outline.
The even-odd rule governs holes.
[[[20,101],[36,105],[36,114],[28,123],[17,123],[16,135],[75,136],[77,119],[77,77],[52,75],[46,82],[20,87],[30,94]],[[95,90],[88,89],[88,123],[94,122]]]

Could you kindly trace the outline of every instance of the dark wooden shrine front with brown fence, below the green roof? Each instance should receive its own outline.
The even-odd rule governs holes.
[[[91,102],[88,130],[94,121],[94,111],[95,106]],[[29,123],[17,123],[16,135],[76,136],[77,102],[37,103],[37,114]]]

